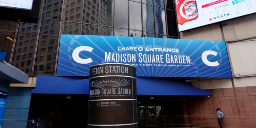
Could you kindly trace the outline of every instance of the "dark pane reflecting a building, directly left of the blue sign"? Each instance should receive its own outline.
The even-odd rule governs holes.
[[[53,75],[58,50],[58,36],[40,35],[39,42],[36,53],[34,75]]]

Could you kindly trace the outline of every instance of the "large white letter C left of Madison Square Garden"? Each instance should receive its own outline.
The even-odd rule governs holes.
[[[87,59],[83,59],[79,57],[79,53],[81,51],[88,51],[88,52],[92,52],[93,48],[89,47],[89,46],[80,46],[77,47],[76,49],[74,49],[73,53],[72,53],[72,58],[80,63],[80,64],[89,64],[90,62],[92,62],[92,58],[87,58]]]

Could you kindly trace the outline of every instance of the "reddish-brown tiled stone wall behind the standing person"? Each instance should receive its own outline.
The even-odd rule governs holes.
[[[256,86],[208,91],[210,98],[188,98],[184,113],[215,115],[218,107],[224,113],[224,128],[256,128]]]

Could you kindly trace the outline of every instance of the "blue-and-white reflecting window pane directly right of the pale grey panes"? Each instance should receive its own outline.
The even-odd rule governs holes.
[[[155,32],[154,24],[154,13],[153,6],[151,5],[142,5],[143,8],[143,31],[146,32]]]

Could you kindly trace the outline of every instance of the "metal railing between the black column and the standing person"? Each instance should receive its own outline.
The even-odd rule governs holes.
[[[203,127],[218,128],[218,119],[214,116],[139,116],[140,127]]]

